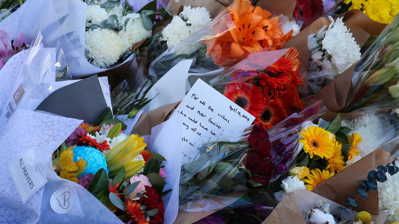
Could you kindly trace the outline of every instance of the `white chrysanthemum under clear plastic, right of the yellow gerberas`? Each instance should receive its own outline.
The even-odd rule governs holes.
[[[359,154],[365,157],[387,140],[393,137],[394,127],[389,122],[381,121],[379,116],[373,113],[358,116],[352,120],[342,120],[341,126],[346,126],[352,131],[349,135],[358,132],[362,140],[358,144]]]

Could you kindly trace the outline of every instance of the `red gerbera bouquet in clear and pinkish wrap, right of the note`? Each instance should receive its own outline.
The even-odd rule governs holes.
[[[271,65],[264,63],[263,59],[270,61],[277,56],[279,59],[269,63]],[[255,116],[255,124],[268,129],[303,109],[296,91],[296,86],[302,83],[298,70],[295,48],[255,53],[226,69],[216,86],[227,98]]]

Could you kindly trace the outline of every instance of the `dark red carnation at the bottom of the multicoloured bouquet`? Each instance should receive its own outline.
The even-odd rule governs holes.
[[[146,193],[144,195],[147,196],[147,198],[142,197],[140,198],[140,203],[142,205],[146,205],[149,210],[153,210],[158,208],[158,212],[154,216],[150,216],[150,224],[162,224],[164,223],[164,202],[162,201],[162,196],[154,186],[152,187],[146,187]]]

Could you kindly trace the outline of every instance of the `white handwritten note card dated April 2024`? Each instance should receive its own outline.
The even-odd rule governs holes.
[[[201,79],[188,91],[172,116],[182,121],[182,163],[193,161],[202,143],[243,130],[255,117]]]

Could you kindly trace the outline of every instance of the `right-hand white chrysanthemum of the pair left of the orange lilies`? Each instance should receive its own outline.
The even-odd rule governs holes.
[[[205,7],[191,8],[191,6],[184,6],[183,12],[180,15],[190,25],[191,33],[204,28],[212,20],[211,15]]]

